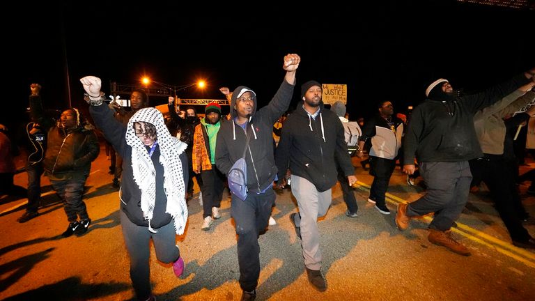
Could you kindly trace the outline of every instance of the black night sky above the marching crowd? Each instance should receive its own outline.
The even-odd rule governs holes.
[[[287,53],[302,57],[292,105],[309,79],[347,84],[351,119],[373,114],[380,100],[391,100],[396,111],[417,105],[439,77],[476,91],[535,66],[534,10],[451,0],[359,2],[254,3],[260,10],[200,1],[187,8],[183,1],[41,4],[51,14],[21,8],[22,30],[14,24],[9,38],[20,45],[11,50],[22,76],[12,85],[15,111],[3,119],[24,111],[32,82],[42,84],[45,107],[68,107],[69,87],[72,104],[86,107],[78,80],[85,75],[101,77],[107,93],[109,82],[137,84],[142,75],[171,85],[206,79],[205,91],[188,88],[182,98],[222,99],[219,86],[246,85],[263,105],[284,77]]]

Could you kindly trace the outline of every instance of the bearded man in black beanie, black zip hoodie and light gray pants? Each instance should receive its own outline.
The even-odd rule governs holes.
[[[277,147],[279,187],[286,185],[290,168],[292,193],[299,213],[290,215],[301,240],[304,265],[310,283],[318,291],[327,284],[321,274],[321,251],[317,219],[327,214],[331,205],[331,188],[336,184],[336,164],[348,177],[349,185],[357,178],[351,164],[343,125],[336,114],[323,107],[321,84],[309,81],[301,86],[302,102],[284,123]]]

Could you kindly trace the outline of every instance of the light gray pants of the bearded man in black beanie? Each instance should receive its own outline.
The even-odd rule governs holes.
[[[295,225],[301,228],[304,265],[310,270],[320,270],[321,250],[318,217],[326,215],[329,206],[331,206],[331,190],[318,192],[315,185],[299,176],[292,175],[291,181],[292,194],[297,199],[301,217],[300,219],[296,218]]]

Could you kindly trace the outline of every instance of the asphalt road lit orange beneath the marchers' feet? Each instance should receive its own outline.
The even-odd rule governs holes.
[[[17,162],[21,164],[21,162]],[[0,199],[0,300],[130,300],[128,256],[121,235],[118,192],[107,173],[104,148],[93,163],[85,201],[93,219],[82,237],[58,238],[67,226],[58,197],[43,178],[41,215],[16,222],[26,199]],[[337,185],[332,208],[320,220],[320,247],[327,291],[307,281],[300,240],[288,216],[297,210],[289,190],[277,196],[277,225],[263,234],[257,300],[535,300],[535,252],[513,247],[509,235],[483,190],[471,194],[455,238],[472,256],[460,256],[427,240],[428,220],[412,222],[401,232],[394,224],[396,204],[424,191],[409,187],[399,169],[392,176],[388,206],[378,213],[366,202],[371,176],[354,160],[359,217],[344,215]],[[535,164],[532,164],[535,167]],[[523,171],[530,167],[522,167]],[[15,176],[26,187],[26,173]],[[535,196],[520,191],[535,216]],[[196,187],[196,192],[199,189]],[[198,194],[196,194],[198,196]],[[189,222],[177,244],[185,259],[182,278],[151,254],[151,280],[157,300],[240,300],[236,237],[224,195],[222,218],[201,231],[197,198],[189,201]],[[535,226],[527,225],[535,236]]]

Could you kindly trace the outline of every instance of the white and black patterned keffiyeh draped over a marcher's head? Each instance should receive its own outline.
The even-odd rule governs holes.
[[[183,167],[179,155],[185,151],[187,144],[171,136],[162,113],[155,108],[140,109],[128,121],[126,143],[132,146],[134,181],[141,190],[141,210],[145,219],[148,219],[148,229],[151,232],[156,232],[150,226],[156,198],[155,169],[147,149],[134,132],[134,122],[139,121],[151,123],[156,128],[160,163],[164,167],[164,191],[167,196],[165,212],[173,217],[176,233],[182,235],[187,222],[187,205]]]

